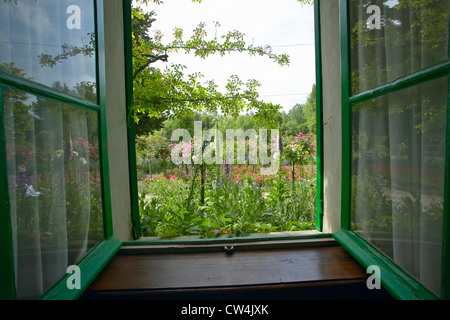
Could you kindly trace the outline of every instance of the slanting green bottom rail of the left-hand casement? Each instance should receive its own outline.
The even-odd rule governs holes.
[[[121,246],[122,241],[114,237],[98,243],[77,265],[80,268],[80,289],[68,288],[67,282],[70,281],[71,274],[66,274],[41,296],[41,300],[78,299],[116,255]]]

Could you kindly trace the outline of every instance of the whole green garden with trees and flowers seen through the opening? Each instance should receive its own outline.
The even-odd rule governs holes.
[[[168,63],[175,55],[206,59],[240,53],[288,67],[290,57],[268,44],[254,43],[238,30],[222,31],[218,22],[213,26],[201,22],[191,33],[175,25],[171,37],[165,38],[153,26],[159,19],[159,3],[139,0],[132,6],[133,104],[129,116],[135,125],[142,236],[212,238],[315,229],[315,85],[305,103],[291,107],[289,102],[286,112],[288,106],[262,99],[258,92],[262,83],[257,79],[244,81],[236,73],[206,79],[200,71],[188,71],[184,62]],[[219,86],[216,81],[224,82]],[[173,161],[179,147],[173,132],[183,128],[195,137],[192,124],[199,120],[223,135],[228,129],[277,128],[283,135],[276,139],[277,150],[270,150],[272,174],[266,174],[268,154],[261,154],[262,146],[249,145],[250,141],[245,142],[245,155],[238,150],[229,156],[221,154],[226,148],[217,148],[222,146],[220,140],[207,139],[209,145],[202,143],[201,153],[211,151],[213,144],[211,156],[226,158],[211,163],[199,161],[198,149],[191,149],[195,142],[183,138],[182,149],[194,154],[188,152],[182,154],[182,162]],[[255,148],[260,148],[257,160],[250,150]]]

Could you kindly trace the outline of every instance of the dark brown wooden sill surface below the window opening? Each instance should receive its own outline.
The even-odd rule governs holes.
[[[168,289],[364,279],[342,247],[117,255],[91,290]]]

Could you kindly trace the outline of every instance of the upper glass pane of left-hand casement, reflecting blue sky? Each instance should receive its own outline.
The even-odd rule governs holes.
[[[0,2],[0,70],[96,101],[92,0]]]

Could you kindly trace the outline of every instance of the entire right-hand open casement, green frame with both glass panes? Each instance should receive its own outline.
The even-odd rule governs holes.
[[[397,298],[448,298],[449,2],[340,1],[342,229]]]

